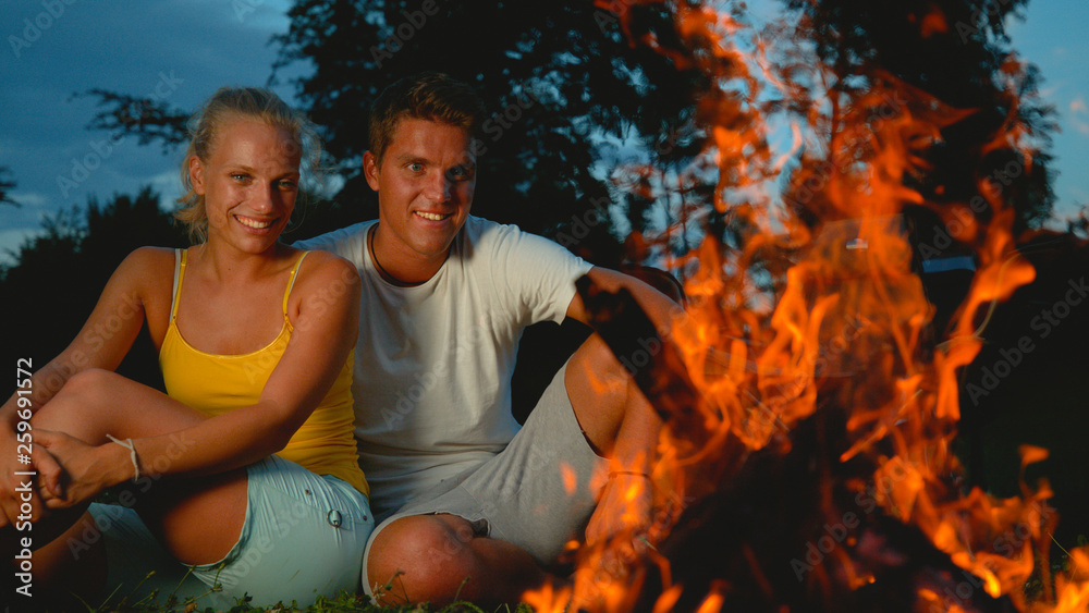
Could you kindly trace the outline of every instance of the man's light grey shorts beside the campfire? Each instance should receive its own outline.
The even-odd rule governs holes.
[[[375,528],[375,537],[402,517],[449,513],[474,524],[484,536],[514,543],[542,566],[555,564],[564,545],[580,539],[596,505],[596,473],[608,461],[586,441],[564,385],[566,365],[544,390],[526,424],[501,453],[463,475],[452,489],[397,510]]]

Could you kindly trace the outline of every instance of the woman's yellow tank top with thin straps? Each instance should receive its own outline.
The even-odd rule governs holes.
[[[167,394],[215,417],[228,410],[256,404],[272,369],[280,361],[292,326],[287,318],[287,296],[295,284],[295,273],[306,257],[299,256],[287,278],[283,293],[283,328],[264,348],[242,355],[216,355],[194,348],[178,330],[178,297],[185,277],[185,249],[176,249],[174,289],[170,324],[159,350],[159,368]],[[314,413],[277,455],[295,462],[318,475],[332,475],[370,493],[359,468],[353,437],[355,415],[352,408],[352,354],[341,368],[332,389]]]

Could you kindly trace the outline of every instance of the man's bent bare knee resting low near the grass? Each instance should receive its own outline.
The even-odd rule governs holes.
[[[386,603],[448,603],[478,569],[472,525],[454,515],[397,519],[375,538],[367,580]]]

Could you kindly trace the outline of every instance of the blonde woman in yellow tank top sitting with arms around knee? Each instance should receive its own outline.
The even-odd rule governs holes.
[[[48,510],[34,547],[50,524],[64,529],[34,552],[38,594],[42,583],[93,593],[118,579],[129,593],[152,564],[147,529],[229,598],[305,604],[359,585],[374,519],[352,437],[358,278],[335,256],[278,242],[301,162],[316,160],[313,131],[260,89],[221,89],[193,125],[179,218],[206,240],[130,255],[79,335],[33,378]],[[144,319],[169,396],[112,372]],[[0,409],[4,443],[19,405],[16,394]],[[126,481],[118,500],[147,529],[121,506],[86,512]]]

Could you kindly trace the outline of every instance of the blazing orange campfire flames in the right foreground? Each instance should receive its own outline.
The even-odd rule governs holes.
[[[670,560],[657,545],[681,514],[759,454],[786,456],[795,444],[792,432],[818,412],[844,412],[849,444],[837,462],[865,469],[839,485],[817,487],[823,516],[842,520],[824,524],[827,534],[810,542],[808,557],[783,561],[783,566],[797,562],[798,580],[813,586],[810,593],[827,594],[836,580],[864,589],[881,583],[882,569],[903,566],[905,556],[882,540],[888,524],[880,515],[911,527],[952,563],[934,569],[933,581],[917,581],[911,597],[918,608],[975,610],[971,594],[978,589],[1008,598],[1020,611],[1089,610],[1089,550],[1069,552],[1069,572],[1051,578],[1048,543],[1056,517],[1047,504],[1048,485],[1023,486],[1020,496],[1006,500],[965,491],[963,468],[951,450],[960,416],[958,373],[979,353],[994,305],[1035,278],[1016,255],[1014,211],[987,180],[979,184],[987,216],[974,214],[976,207],[969,210],[967,203],[928,201],[910,187],[913,177],[929,170],[923,152],[941,139],[942,128],[974,111],[943,105],[891,75],[877,75],[870,90],[854,99],[821,90],[821,66],[797,61],[798,49],[784,52],[795,59],[784,71],[769,60],[774,50],[742,20],[708,5],[671,8],[678,34],[694,51],[665,49],[649,37],[640,42],[680,68],[698,69],[713,84],[698,102],[706,148],[676,184],[717,177],[710,201],[688,204],[674,219],[686,223],[713,210],[729,221],[733,248],[706,233],[687,256],[668,262],[685,278],[689,306],[687,319],[672,331],[675,355],[665,352],[657,379],[643,384],[645,391],[669,390],[648,394],[671,417],[651,479],[629,486],[627,507],[609,510],[629,529],[609,542],[583,545],[570,588],[548,587],[527,593],[526,601],[538,611],[568,604],[628,611],[640,590],[652,588],[658,593],[652,610],[673,610],[686,588],[673,583]],[[631,15],[625,10],[620,16],[629,33]],[[927,35],[949,28],[938,9],[919,21]],[[805,65],[809,74],[802,77]],[[1004,66],[1011,81],[1018,65]],[[797,85],[804,78],[808,87]],[[800,109],[785,155],[773,154],[769,144],[775,130],[768,100],[775,95]],[[1020,151],[1029,165],[1024,138],[1011,120],[986,147]],[[799,151],[807,151],[806,163],[791,172],[787,160]],[[633,170],[640,177],[656,172],[661,174]],[[784,179],[784,197],[772,196],[770,186]],[[905,206],[930,207],[951,223],[956,219],[959,238],[976,250],[977,273],[941,343],[928,340],[932,307],[913,268]],[[663,236],[676,231],[668,229]],[[1021,456],[1024,467],[1047,451],[1025,448]],[[841,515],[836,501],[845,493],[872,506]],[[658,514],[644,529],[637,505],[648,496]],[[744,545],[723,555],[744,559],[754,589],[773,597],[778,569],[763,565],[759,553]],[[956,567],[963,578],[952,572]],[[1043,588],[1030,602],[1024,587],[1033,573]],[[942,581],[956,589],[941,589]],[[729,609],[735,588],[725,579],[711,581],[698,610]]]

